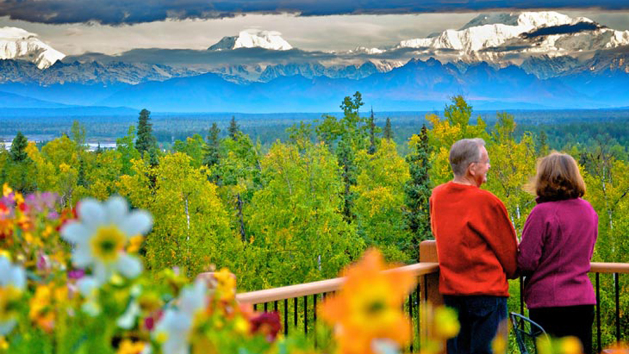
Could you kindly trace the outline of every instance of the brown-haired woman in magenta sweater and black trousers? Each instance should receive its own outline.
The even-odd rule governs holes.
[[[581,199],[586,186],[576,161],[567,154],[543,157],[532,189],[537,205],[526,219],[518,253],[526,277],[526,307],[548,334],[576,336],[589,354],[596,297],[587,272],[598,215]]]

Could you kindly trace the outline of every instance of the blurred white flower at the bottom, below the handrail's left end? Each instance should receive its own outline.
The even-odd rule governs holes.
[[[176,307],[164,311],[153,331],[153,338],[162,345],[162,353],[189,354],[194,317],[205,309],[207,292],[206,282],[199,279],[182,290]]]

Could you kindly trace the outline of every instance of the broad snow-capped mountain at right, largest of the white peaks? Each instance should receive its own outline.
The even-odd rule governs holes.
[[[404,40],[396,48],[420,49],[438,57],[469,62],[486,60],[496,64],[521,64],[532,55],[577,56],[584,51],[623,45],[629,45],[629,31],[616,31],[588,18],[540,11],[482,14],[460,30]],[[508,62],[503,61],[505,57],[509,57]]]

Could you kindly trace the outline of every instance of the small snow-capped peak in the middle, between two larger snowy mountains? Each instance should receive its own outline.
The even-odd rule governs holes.
[[[230,50],[238,48],[263,48],[270,50],[292,49],[282,34],[278,31],[263,31],[249,29],[240,31],[237,36],[223,37],[218,43],[212,45],[208,50]]]

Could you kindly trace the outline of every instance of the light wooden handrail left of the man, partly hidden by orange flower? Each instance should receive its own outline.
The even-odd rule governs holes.
[[[416,277],[420,275],[431,274],[439,271],[438,263],[423,262],[414,265],[401,266],[392,268],[389,271],[410,271]],[[345,278],[333,278],[328,280],[320,280],[319,282],[304,283],[297,285],[289,285],[281,288],[271,288],[267,290],[258,290],[253,292],[244,292],[236,295],[239,302],[248,304],[261,304],[263,302],[271,302],[284,299],[292,299],[294,297],[322,294],[338,290]]]

